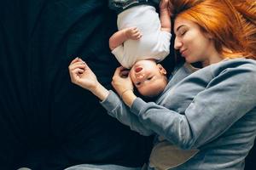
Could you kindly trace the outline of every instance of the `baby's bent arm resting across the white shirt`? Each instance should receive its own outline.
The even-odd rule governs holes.
[[[128,39],[132,40],[138,40],[142,37],[140,31],[138,31],[137,27],[131,27],[131,28],[125,28],[123,30],[115,32],[110,38],[109,38],[109,48],[111,51],[114,48],[119,47],[123,42],[125,42]]]

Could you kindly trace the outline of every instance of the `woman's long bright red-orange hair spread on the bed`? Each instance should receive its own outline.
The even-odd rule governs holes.
[[[256,59],[256,3],[250,0],[171,0],[172,16],[211,35],[224,58]]]

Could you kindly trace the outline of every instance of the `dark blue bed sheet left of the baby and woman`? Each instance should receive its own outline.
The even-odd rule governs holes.
[[[79,56],[111,88],[108,1],[1,0],[0,8],[0,169],[147,161],[151,138],[108,116],[68,75]]]

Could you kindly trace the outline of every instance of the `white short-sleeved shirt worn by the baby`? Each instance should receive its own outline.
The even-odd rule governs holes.
[[[143,34],[139,40],[126,40],[112,53],[125,68],[141,59],[161,61],[170,53],[171,33],[161,31],[159,14],[150,5],[128,8],[118,15],[119,30],[136,26]]]

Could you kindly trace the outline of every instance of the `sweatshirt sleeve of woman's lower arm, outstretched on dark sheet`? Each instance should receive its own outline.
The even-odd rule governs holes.
[[[153,133],[152,130],[143,126],[138,117],[130,111],[130,108],[112,90],[109,91],[107,99],[103,100],[101,105],[108,111],[108,115],[131,127],[131,130],[144,136],[149,136]]]

